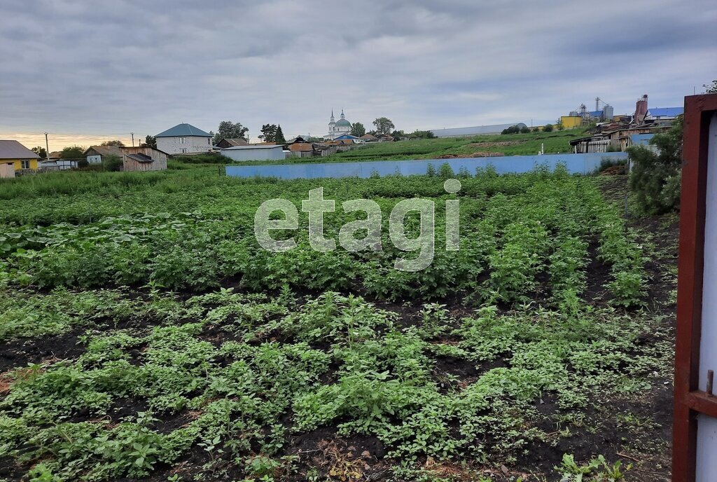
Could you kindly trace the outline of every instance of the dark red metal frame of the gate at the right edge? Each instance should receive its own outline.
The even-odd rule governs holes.
[[[717,95],[685,97],[678,261],[673,482],[694,482],[697,415],[717,418],[717,397],[698,387],[709,123]],[[717,166],[713,166],[715,169]]]

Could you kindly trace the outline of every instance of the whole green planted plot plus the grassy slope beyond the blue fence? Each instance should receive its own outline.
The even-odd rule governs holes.
[[[571,135],[494,141],[549,152]],[[489,170],[447,194],[445,168],[174,167],[0,181],[0,480],[668,480],[674,306],[655,290],[673,289],[670,219],[627,221],[624,179]],[[372,199],[381,250],[310,247],[301,202],[319,186],[336,200],[326,237],[362,219],[341,202]],[[300,214],[281,253],[253,232],[275,197]],[[394,247],[389,213],[412,197],[435,202],[435,255],[404,272],[395,260],[418,253]],[[420,221],[404,219],[409,235]]]

